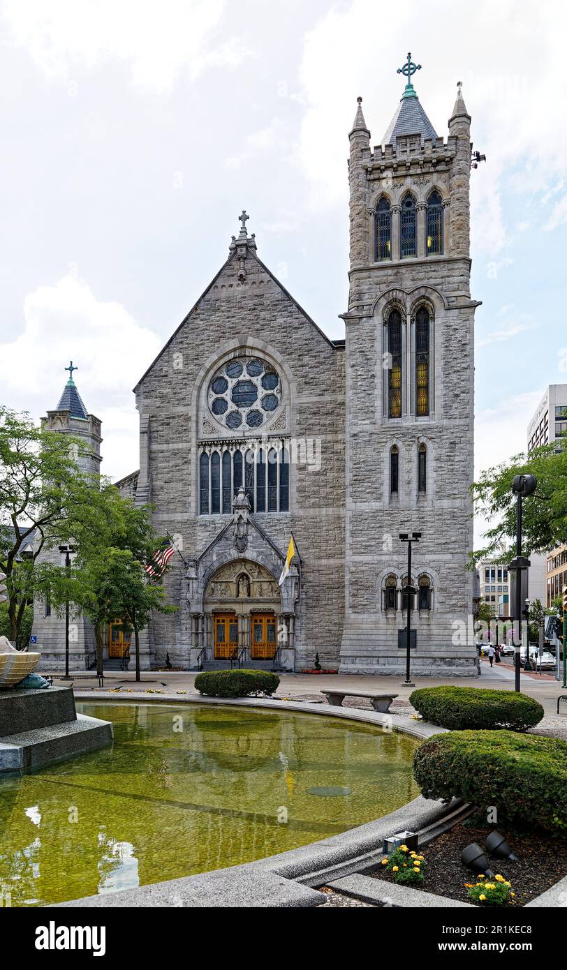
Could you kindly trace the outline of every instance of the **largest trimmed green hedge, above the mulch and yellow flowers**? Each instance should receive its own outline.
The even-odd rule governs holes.
[[[414,777],[425,798],[463,798],[511,821],[567,830],[567,744],[509,730],[434,734],[417,748]]]

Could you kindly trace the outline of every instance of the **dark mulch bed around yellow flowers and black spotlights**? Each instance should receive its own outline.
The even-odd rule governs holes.
[[[483,906],[483,903],[475,904],[467,895],[464,884],[476,883],[477,875],[462,865],[460,855],[471,842],[478,842],[484,847],[484,839],[493,828],[479,824],[478,820],[472,818],[466,820],[465,824],[455,825],[449,832],[424,846],[419,850],[427,862],[424,880],[420,887],[413,885],[412,888]],[[497,830],[505,836],[511,851],[517,856],[517,862],[504,858],[488,859],[492,871],[500,873],[512,883],[516,896],[508,905],[525,906],[567,875],[565,839],[556,838],[540,828],[520,831],[502,824],[497,826]],[[374,869],[368,875],[384,882],[394,881],[393,874],[385,866]]]

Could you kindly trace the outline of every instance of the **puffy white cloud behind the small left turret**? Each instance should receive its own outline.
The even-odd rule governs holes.
[[[102,303],[67,275],[39,286],[23,306],[23,329],[0,344],[3,403],[37,419],[56,406],[73,358],[87,410],[103,421],[102,471],[113,478],[138,468],[138,412],[132,388],[160,340],[117,303]]]

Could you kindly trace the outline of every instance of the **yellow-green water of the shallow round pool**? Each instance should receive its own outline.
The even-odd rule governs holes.
[[[113,722],[112,748],[0,780],[0,892],[13,906],[271,856],[418,793],[417,741],[356,722],[193,704],[78,709]]]

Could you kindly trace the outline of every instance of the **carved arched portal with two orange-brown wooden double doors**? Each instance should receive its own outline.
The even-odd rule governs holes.
[[[272,660],[288,622],[272,573],[251,560],[219,566],[204,598],[209,656],[216,661]],[[282,637],[284,630],[284,637]]]

